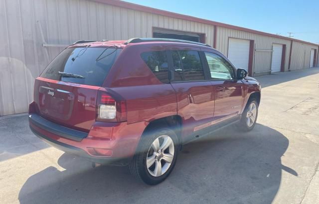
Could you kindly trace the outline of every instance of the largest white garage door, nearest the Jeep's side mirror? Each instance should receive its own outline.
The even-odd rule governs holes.
[[[228,59],[236,68],[248,71],[249,40],[229,38]]]

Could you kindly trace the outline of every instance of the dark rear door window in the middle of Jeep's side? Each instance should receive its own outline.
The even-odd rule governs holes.
[[[192,50],[172,51],[174,80],[204,80],[199,53]]]

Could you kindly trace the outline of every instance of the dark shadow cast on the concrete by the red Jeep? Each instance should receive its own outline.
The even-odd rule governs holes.
[[[249,133],[227,128],[186,144],[175,169],[157,186],[136,180],[127,167],[100,166],[69,154],[32,175],[19,192],[35,203],[271,203],[281,183],[289,140],[257,124]]]

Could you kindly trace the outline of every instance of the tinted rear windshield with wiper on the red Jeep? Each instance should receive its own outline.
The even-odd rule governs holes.
[[[44,69],[40,76],[65,82],[102,86],[120,52],[121,49],[115,46],[67,48]],[[70,76],[70,74],[76,75]]]

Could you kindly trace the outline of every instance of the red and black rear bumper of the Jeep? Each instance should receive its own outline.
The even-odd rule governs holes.
[[[95,163],[125,166],[135,154],[147,123],[99,122],[89,133],[84,133],[49,122],[37,114],[29,114],[29,125],[34,135],[64,152]],[[111,154],[93,155],[92,148],[106,149]]]

